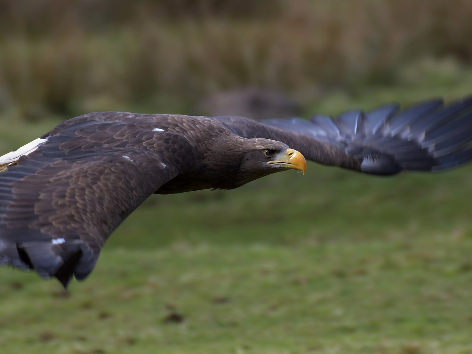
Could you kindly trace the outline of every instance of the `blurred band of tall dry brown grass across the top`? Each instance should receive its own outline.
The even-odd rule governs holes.
[[[421,58],[472,59],[468,0],[221,3],[3,0],[0,105],[29,118],[158,108],[158,97],[188,104],[245,85],[303,100],[395,83]]]

